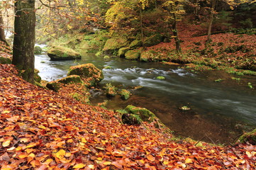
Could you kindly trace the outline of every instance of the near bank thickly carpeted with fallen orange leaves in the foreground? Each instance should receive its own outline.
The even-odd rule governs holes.
[[[0,168],[255,169],[256,146],[173,140],[154,123],[123,125],[117,113],[34,86],[0,64]]]

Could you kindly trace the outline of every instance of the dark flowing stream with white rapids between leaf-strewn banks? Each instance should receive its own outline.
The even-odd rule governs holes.
[[[255,77],[231,79],[233,75],[223,72],[194,73],[177,66],[159,63],[142,63],[122,59],[104,61],[94,55],[77,61],[50,61],[43,55],[35,56],[35,68],[40,77],[47,81],[67,75],[72,65],[94,63],[103,69],[104,80],[100,86],[111,83],[132,92],[127,101],[116,96],[108,101],[108,108],[125,108],[127,105],[148,108],[155,113],[174,134],[192,137],[214,143],[233,142],[243,130],[256,126]],[[165,80],[156,79],[163,76]],[[214,80],[223,79],[217,83]],[[142,89],[133,89],[143,86]],[[92,94],[92,103],[103,102],[107,98],[101,92]],[[188,106],[190,111],[179,108]]]

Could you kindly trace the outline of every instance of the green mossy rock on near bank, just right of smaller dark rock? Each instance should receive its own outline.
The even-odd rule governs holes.
[[[126,111],[134,115],[139,115],[141,120],[147,121],[147,122],[152,122],[156,118],[155,114],[149,111],[147,108],[140,108],[140,107],[128,105],[126,106]]]

